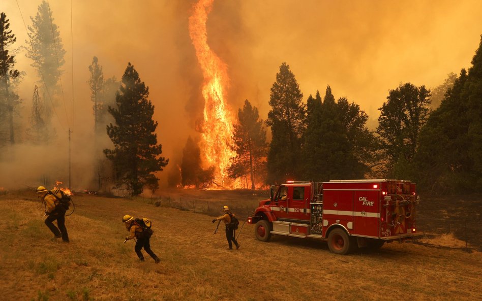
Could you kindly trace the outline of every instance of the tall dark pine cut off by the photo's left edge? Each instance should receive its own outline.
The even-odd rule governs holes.
[[[8,48],[17,38],[12,34],[10,21],[5,13],[0,13],[0,114],[7,119],[9,143],[15,143],[14,112],[19,105],[18,95],[13,91],[12,84],[19,78],[20,72],[14,69],[15,55],[10,54]]]

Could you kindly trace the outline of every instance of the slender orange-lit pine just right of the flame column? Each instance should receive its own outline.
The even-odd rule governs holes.
[[[251,189],[259,182],[259,172],[266,157],[266,131],[258,109],[246,99],[243,109],[238,110],[238,124],[234,124],[234,151],[229,168],[230,177],[249,179]]]

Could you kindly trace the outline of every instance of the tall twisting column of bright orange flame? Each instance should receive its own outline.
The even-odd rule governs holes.
[[[189,17],[189,35],[196,49],[196,56],[202,69],[204,83],[204,120],[202,125],[201,149],[204,163],[215,166],[215,181],[224,185],[227,179],[225,169],[235,155],[233,145],[233,122],[227,110],[225,94],[229,84],[226,64],[207,45],[206,20],[214,0],[199,0],[193,6]]]

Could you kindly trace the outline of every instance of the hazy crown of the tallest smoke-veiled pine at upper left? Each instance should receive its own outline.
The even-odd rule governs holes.
[[[62,75],[62,66],[65,63],[66,51],[58,26],[54,23],[52,11],[45,0],[38,7],[35,18],[31,17],[32,26],[28,26],[27,57],[33,60],[32,66],[37,70],[40,79],[45,82],[44,96],[52,98],[59,93],[58,81]],[[43,88],[43,87],[42,87]]]

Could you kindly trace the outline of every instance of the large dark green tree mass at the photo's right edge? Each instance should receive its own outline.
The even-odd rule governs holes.
[[[434,192],[482,192],[482,39],[420,132],[416,170]]]

